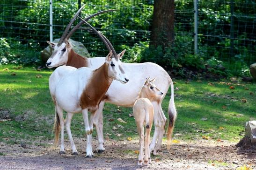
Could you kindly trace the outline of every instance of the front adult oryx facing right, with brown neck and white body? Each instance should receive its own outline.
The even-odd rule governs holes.
[[[103,38],[102,41],[104,41]],[[59,131],[61,129],[60,154],[65,153],[63,110],[67,112],[66,131],[70,139],[72,154],[78,153],[73,142],[70,122],[73,114],[82,113],[87,134],[86,157],[91,158],[93,156],[91,134],[93,132],[95,110],[98,109],[101,100],[105,97],[113,79],[122,83],[129,81],[122,67],[122,62],[119,60],[124,55],[124,51],[118,55],[112,55],[106,41],[105,45],[110,53],[106,56],[105,62],[100,68],[92,70],[86,67],[77,69],[70,66],[60,66],[49,78],[50,94],[56,112],[54,123],[56,143],[59,141]],[[67,39],[66,48],[67,51],[72,48]],[[88,119],[88,111],[91,112],[90,120]]]

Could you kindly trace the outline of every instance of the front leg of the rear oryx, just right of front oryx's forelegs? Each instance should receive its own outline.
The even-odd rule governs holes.
[[[103,146],[104,140],[103,140],[103,115],[102,115],[104,104],[105,102],[100,102],[99,108],[95,111],[95,117],[94,117],[94,125],[95,125],[95,129],[97,131],[97,136],[98,136],[98,147],[96,148],[97,153],[102,153],[105,150]]]

